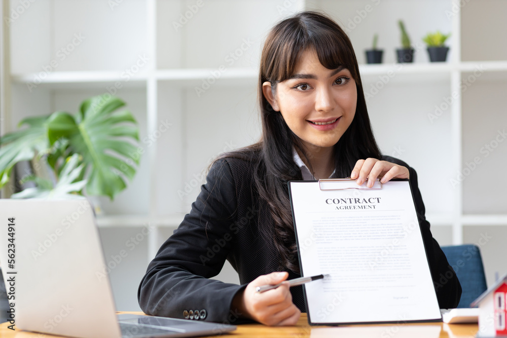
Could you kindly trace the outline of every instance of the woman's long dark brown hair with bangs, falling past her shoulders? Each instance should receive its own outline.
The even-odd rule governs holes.
[[[380,159],[352,44],[336,22],[324,14],[311,11],[282,20],[267,36],[261,54],[258,84],[262,117],[261,140],[220,157],[251,160],[252,151],[259,152],[260,159],[256,162],[253,183],[261,199],[269,205],[274,220],[271,235],[280,254],[280,264],[295,272],[299,272],[299,264],[287,181],[302,179],[301,171],[293,159],[293,148],[303,154],[306,163],[311,163],[311,154],[305,152],[303,143],[289,129],[280,112],[273,110],[263,95],[262,85],[269,81],[275,87],[276,83],[291,77],[301,54],[309,49],[316,52],[324,67],[347,68],[357,88],[354,119],[334,146],[334,177],[349,176],[359,159]]]

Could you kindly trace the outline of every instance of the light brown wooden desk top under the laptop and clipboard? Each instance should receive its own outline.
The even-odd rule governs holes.
[[[125,312],[120,312],[125,313]],[[139,312],[128,312],[141,314]],[[2,338],[34,338],[34,337],[57,337],[27,331],[10,330],[8,323],[0,324],[0,337]],[[477,324],[382,324],[382,325],[349,325],[339,327],[309,326],[306,314],[302,314],[296,326],[269,327],[261,324],[238,325],[237,330],[223,335],[224,337],[262,337],[262,338],[327,338],[327,337],[379,337],[379,338],[472,338],[477,333]]]

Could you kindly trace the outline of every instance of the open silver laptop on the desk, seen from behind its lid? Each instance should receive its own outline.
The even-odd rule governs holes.
[[[14,287],[9,302],[15,304],[15,325],[22,330],[135,338],[236,329],[220,323],[117,315],[93,210],[84,198],[0,199],[0,262],[7,288]]]

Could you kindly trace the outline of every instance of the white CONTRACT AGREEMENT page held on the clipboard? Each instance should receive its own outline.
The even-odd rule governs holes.
[[[357,187],[289,182],[309,323],[441,321],[409,181]]]

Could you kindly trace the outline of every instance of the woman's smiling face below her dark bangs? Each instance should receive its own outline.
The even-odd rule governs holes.
[[[346,68],[328,69],[313,50],[303,52],[294,76],[263,93],[274,110],[308,148],[331,147],[354,119],[357,90]]]

